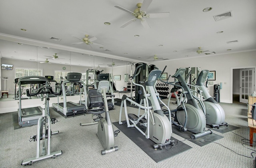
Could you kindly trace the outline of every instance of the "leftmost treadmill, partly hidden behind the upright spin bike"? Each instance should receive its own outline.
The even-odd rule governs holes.
[[[38,118],[42,116],[42,107],[30,107],[22,108],[21,107],[21,86],[23,84],[42,84],[47,86],[48,80],[42,76],[25,76],[18,79],[19,85],[19,108],[18,108],[18,117],[19,125],[22,126],[32,126],[38,123]]]

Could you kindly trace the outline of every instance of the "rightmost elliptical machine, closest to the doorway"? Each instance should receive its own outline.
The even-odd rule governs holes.
[[[202,90],[202,96],[204,96],[204,106],[206,112],[206,124],[212,128],[220,128],[220,126],[228,126],[225,122],[225,112],[223,108],[210,96],[204,82],[207,80],[209,70],[202,70],[196,80],[196,85]]]

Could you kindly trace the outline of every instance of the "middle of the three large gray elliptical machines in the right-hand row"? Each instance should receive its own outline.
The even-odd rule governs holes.
[[[164,70],[167,66],[165,66]],[[164,70],[162,73],[164,73]],[[178,106],[178,108],[171,110],[171,112],[175,112],[174,121],[172,124],[177,126],[182,132],[186,132],[187,130],[190,132],[194,132],[195,134],[191,135],[192,139],[196,139],[208,134],[212,134],[211,130],[206,130],[206,118],[204,112],[200,109],[196,100],[193,98],[190,89],[182,75],[186,71],[186,68],[179,68],[176,73],[172,76],[172,78],[177,78],[180,85],[175,84],[176,82],[168,82],[168,80],[164,82],[166,84],[171,84],[177,87],[182,88],[182,94],[186,96],[184,100],[187,100],[186,103],[182,101],[182,104]],[[171,115],[169,115],[171,118]]]

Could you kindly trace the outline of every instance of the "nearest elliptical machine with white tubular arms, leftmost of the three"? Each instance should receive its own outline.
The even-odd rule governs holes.
[[[142,99],[140,100],[140,104],[133,101],[132,99],[128,98],[126,95],[122,97],[122,102],[120,106],[120,115],[119,115],[119,124],[127,124],[127,127],[135,127],[140,133],[142,133],[147,139],[150,138],[156,144],[153,145],[153,148],[160,148],[162,146],[166,146],[168,144],[174,144],[171,138],[172,134],[172,124],[171,121],[168,119],[164,112],[161,109],[159,101],[169,110],[170,109],[159,97],[159,93],[157,93],[155,85],[156,80],[159,78],[161,74],[161,70],[152,70],[148,75],[148,80],[145,81],[146,88],[134,82],[135,77],[140,74],[140,71],[143,64],[136,67],[134,76],[132,78],[132,83],[136,86],[142,87],[143,94]],[[132,102],[136,106],[139,107],[138,116],[135,114],[128,114],[127,113],[127,105],[126,101]],[[143,105],[142,105],[143,104]],[[122,116],[122,108],[124,107],[126,121],[121,121]],[[140,109],[144,109],[144,114],[140,116]],[[130,124],[131,122],[131,124]],[[142,128],[140,128],[138,125]],[[146,127],[146,131],[143,131],[143,127]]]

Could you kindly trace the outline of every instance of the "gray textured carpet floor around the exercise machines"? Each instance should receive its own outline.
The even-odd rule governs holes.
[[[247,106],[244,104],[220,103],[226,114],[226,122],[239,129],[224,134],[213,130],[214,134],[223,136],[205,146],[198,146],[189,140],[185,140],[177,134],[173,138],[184,142],[192,149],[182,152],[176,156],[156,163],[143,150],[140,149],[124,133],[120,132],[115,138],[119,150],[101,155],[103,149],[96,136],[97,124],[80,126],[80,123],[89,122],[90,115],[81,115],[71,118],[64,118],[51,108],[51,117],[58,122],[52,124],[52,131],[59,130],[59,134],[52,135],[52,152],[62,150],[63,154],[55,159],[41,160],[29,166],[31,168],[252,168],[254,159],[251,157],[255,146],[242,146],[243,138],[249,139],[249,128],[247,122]],[[128,107],[128,113],[136,114],[136,108]],[[120,107],[110,111],[112,122],[119,120]],[[122,120],[125,120],[122,115]],[[17,121],[18,122],[18,121]],[[116,126],[113,126],[116,130]],[[32,135],[36,135],[37,126],[14,130],[12,113],[0,114],[0,167],[18,168],[24,159],[36,155],[36,142],[29,142]],[[236,134],[234,134],[236,133]],[[255,138],[254,138],[255,140]],[[226,148],[224,148],[223,146]],[[231,150],[229,150],[229,149]],[[250,149],[252,150],[250,150]],[[233,152],[233,151],[234,152]],[[236,154],[237,152],[238,154]],[[255,154],[253,154],[255,156]]]

